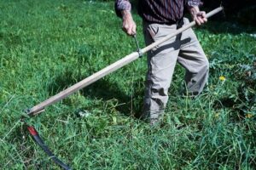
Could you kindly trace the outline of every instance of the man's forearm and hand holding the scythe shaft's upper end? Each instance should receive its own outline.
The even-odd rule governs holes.
[[[201,24],[207,22],[206,12],[199,9],[201,0],[188,0],[187,5],[192,19],[195,20],[197,25],[201,26]]]

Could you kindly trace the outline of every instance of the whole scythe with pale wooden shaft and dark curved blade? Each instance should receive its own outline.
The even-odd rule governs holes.
[[[224,9],[223,7],[219,7],[219,8],[216,8],[216,9],[212,10],[211,12],[209,12],[207,14],[207,18],[211,17],[213,14],[217,14],[218,12],[222,11],[223,9]],[[167,40],[171,39],[172,37],[177,36],[181,32],[183,32],[185,30],[188,30],[192,26],[195,26],[195,21],[190,22],[188,25],[179,28],[177,31],[173,32],[172,34],[170,34],[166,37],[163,37],[162,39],[160,39],[160,41],[154,42],[154,43],[148,45],[147,47],[145,47],[143,49],[139,48],[138,42],[137,42],[137,37],[135,35],[134,38],[135,38],[135,41],[137,43],[137,52],[133,52],[129,55],[126,55],[123,59],[119,59],[118,61],[116,61],[112,65],[108,65],[107,67],[105,67],[101,71],[98,71],[98,72],[94,73],[93,75],[91,75],[90,77],[85,78],[81,82],[77,82],[76,84],[74,84],[73,86],[63,90],[59,94],[55,94],[54,96],[50,97],[49,99],[44,100],[42,103],[33,106],[31,109],[26,110],[27,116],[36,116],[39,113],[42,113],[46,106],[53,105],[57,101],[60,101],[61,99],[64,99],[64,98],[67,98],[67,96],[69,96],[70,94],[73,94],[73,93],[79,91],[81,88],[84,88],[84,87],[90,85],[91,83],[96,82],[97,80],[101,79],[102,77],[107,76],[111,72],[116,71],[116,70],[118,70],[119,68],[121,68],[125,65],[128,65],[133,60],[138,59],[144,53],[148,52],[150,49],[154,48],[155,46],[160,45],[163,42],[166,42]],[[47,145],[44,144],[43,139],[41,139],[38,136],[38,133],[37,133],[37,131],[35,130],[34,127],[30,126],[30,127],[27,127],[27,129],[32,134],[33,139],[35,139],[35,141],[53,159],[53,161],[55,161],[55,163],[57,163],[63,169],[70,169],[70,167],[68,167],[66,164],[61,162],[59,159],[57,159],[54,156],[54,154],[52,154],[50,152]]]

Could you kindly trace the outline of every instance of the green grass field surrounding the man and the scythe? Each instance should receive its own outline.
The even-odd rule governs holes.
[[[0,8],[0,169],[59,169],[20,116],[136,44],[121,31],[113,3],[9,0]],[[143,47],[142,20],[135,20]],[[145,57],[27,122],[73,169],[254,169],[256,30],[209,20],[195,32],[210,60],[207,88],[197,99],[181,98],[177,65],[159,127],[136,117]]]

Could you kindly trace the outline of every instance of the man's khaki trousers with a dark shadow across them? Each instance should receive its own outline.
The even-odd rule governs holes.
[[[185,25],[189,24],[188,19],[184,18],[183,21]],[[143,22],[147,45],[176,30],[175,24],[167,26]],[[207,82],[209,62],[191,28],[148,52],[143,116],[149,118],[151,124],[159,120],[160,114],[166,108],[168,88],[176,62],[186,70],[184,81],[189,94],[200,94]]]

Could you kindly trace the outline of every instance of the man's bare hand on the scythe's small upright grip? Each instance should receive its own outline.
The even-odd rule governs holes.
[[[123,31],[125,31],[129,36],[136,34],[136,24],[132,19],[130,11],[123,10]]]

